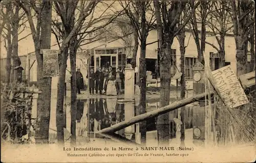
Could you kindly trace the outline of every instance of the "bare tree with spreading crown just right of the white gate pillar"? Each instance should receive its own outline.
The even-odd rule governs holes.
[[[148,33],[154,29],[155,15],[151,1],[119,1],[124,8],[125,14],[129,17],[133,26],[133,32],[138,36],[140,41],[140,104],[139,113],[146,113],[146,43]],[[126,8],[125,8],[126,7]],[[149,16],[148,16],[149,15]],[[137,53],[137,39],[135,38],[135,46],[133,50],[133,60],[136,60],[135,51]],[[133,64],[134,61],[133,61]],[[139,82],[139,81],[137,81]],[[146,122],[140,123],[141,128],[141,144],[146,141]]]

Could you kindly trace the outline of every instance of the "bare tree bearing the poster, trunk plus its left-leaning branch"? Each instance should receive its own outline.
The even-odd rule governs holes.
[[[37,83],[42,93],[38,94],[35,140],[37,142],[49,140],[51,85],[52,78],[42,74],[43,57],[40,49],[51,48],[51,1],[15,1],[25,11],[34,41],[37,62]],[[33,15],[35,14],[35,18]]]

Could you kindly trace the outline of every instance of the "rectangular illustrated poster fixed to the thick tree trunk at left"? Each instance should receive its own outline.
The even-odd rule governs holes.
[[[44,58],[42,64],[42,73],[44,77],[57,76],[58,50],[43,49],[42,55]]]

